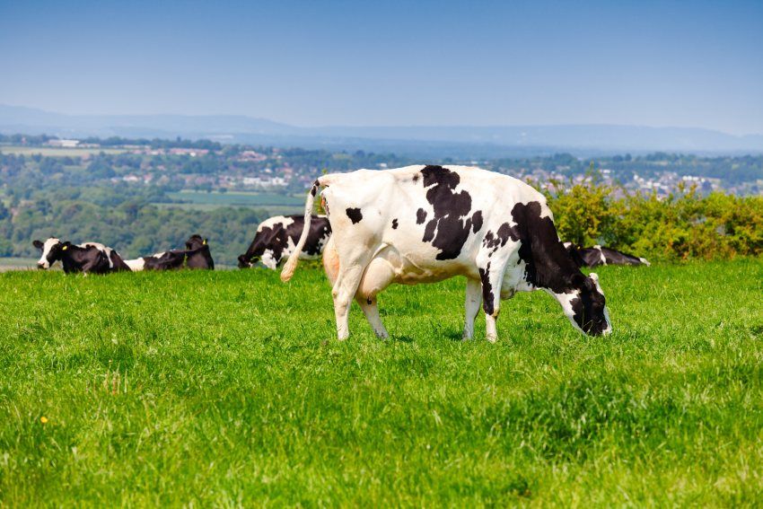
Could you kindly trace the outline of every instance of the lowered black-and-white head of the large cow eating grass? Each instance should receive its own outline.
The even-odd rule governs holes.
[[[572,285],[572,292],[556,295],[567,318],[576,329],[590,336],[610,334],[610,312],[599,285],[599,276],[594,273],[591,276],[578,273],[573,276]]]

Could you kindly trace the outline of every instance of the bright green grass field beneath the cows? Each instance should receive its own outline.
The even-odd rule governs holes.
[[[298,270],[0,275],[0,505],[757,505],[763,260],[601,268],[615,333],[546,294],[461,342],[463,281]]]

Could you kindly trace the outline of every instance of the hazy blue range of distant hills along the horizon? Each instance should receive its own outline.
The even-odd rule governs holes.
[[[64,115],[0,105],[0,132],[54,136],[183,136],[224,143],[387,151],[440,157],[550,154],[763,153],[763,135],[615,125],[511,127],[295,127],[241,115]]]

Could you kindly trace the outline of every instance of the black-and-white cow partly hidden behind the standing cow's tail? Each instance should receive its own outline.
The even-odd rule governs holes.
[[[254,267],[261,261],[265,267],[276,270],[282,259],[291,256],[303,226],[302,215],[276,215],[266,219],[257,227],[249,249],[239,257],[239,268]],[[325,215],[311,215],[300,259],[318,259],[330,235],[329,219]]]

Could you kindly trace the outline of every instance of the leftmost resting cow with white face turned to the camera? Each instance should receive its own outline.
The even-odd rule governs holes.
[[[37,262],[38,268],[50,268],[61,261],[64,272],[83,272],[84,274],[106,274],[130,270],[119,253],[98,242],[85,242],[75,245],[51,237],[47,241],[32,241],[34,247],[42,250]]]

